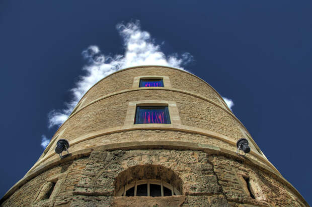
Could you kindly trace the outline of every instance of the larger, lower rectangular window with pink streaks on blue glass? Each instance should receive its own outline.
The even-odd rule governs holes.
[[[170,124],[168,106],[137,106],[134,124]]]

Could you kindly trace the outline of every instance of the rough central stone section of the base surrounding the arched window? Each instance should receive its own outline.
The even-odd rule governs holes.
[[[176,150],[93,152],[74,194],[112,196],[114,190],[141,179],[172,183],[184,194],[219,193],[221,188],[205,154]],[[96,160],[102,163],[94,167]]]

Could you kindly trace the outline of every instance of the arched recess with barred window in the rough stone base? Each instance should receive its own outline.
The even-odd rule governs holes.
[[[118,174],[115,196],[171,196],[182,194],[182,180],[161,165],[136,165]]]

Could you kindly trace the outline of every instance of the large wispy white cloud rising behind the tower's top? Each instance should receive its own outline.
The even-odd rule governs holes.
[[[189,53],[166,56],[161,51],[160,45],[154,43],[150,34],[141,30],[139,21],[118,24],[116,28],[124,41],[124,54],[106,56],[95,45],[83,51],[82,55],[88,61],[83,70],[87,71],[87,74],[81,76],[75,87],[70,90],[73,99],[66,103],[66,107],[52,110],[48,114],[49,128],[61,125],[82,96],[96,82],[115,71],[139,65],[162,65],[184,70],[182,66],[192,61]]]

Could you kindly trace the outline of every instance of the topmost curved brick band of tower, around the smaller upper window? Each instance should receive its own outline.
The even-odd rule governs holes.
[[[225,105],[219,94],[203,80],[181,70],[160,66],[143,66],[118,71],[117,73],[114,73],[95,84],[79,103],[83,102],[82,106],[84,106],[107,94],[133,89],[134,78],[138,76],[168,76],[171,84],[170,88],[181,89],[193,92],[195,94],[200,94],[219,104]],[[168,88],[166,84],[165,87]]]

